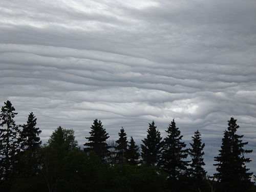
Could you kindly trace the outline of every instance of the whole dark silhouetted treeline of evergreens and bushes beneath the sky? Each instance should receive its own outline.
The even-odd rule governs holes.
[[[34,114],[23,125],[15,123],[15,115],[6,101],[0,114],[0,191],[256,191],[245,165],[252,151],[244,149],[248,142],[236,134],[239,125],[232,117],[215,157],[217,173],[209,177],[200,132],[186,148],[174,120],[165,138],[149,123],[139,147],[123,127],[119,139],[108,142],[95,119],[81,150],[73,130],[59,126],[42,145]]]

